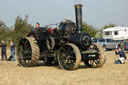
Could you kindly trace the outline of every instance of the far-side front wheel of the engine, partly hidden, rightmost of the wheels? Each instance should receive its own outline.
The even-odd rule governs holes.
[[[88,67],[98,68],[101,67],[105,62],[105,53],[104,49],[99,44],[92,44],[90,45],[89,49],[97,50],[99,57],[97,60],[86,60],[84,61],[84,64]]]

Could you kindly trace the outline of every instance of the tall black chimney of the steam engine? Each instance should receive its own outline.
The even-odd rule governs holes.
[[[76,28],[77,33],[82,33],[82,4],[76,4],[75,15],[76,15]]]

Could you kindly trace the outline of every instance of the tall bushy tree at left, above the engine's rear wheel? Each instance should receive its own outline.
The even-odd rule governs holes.
[[[27,34],[33,29],[33,26],[28,23],[28,16],[25,16],[22,19],[20,16],[17,16],[14,30],[12,31],[12,38],[17,43],[20,38],[27,36]]]

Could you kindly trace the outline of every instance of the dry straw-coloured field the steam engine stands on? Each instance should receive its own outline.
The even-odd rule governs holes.
[[[0,61],[0,85],[128,85],[128,62],[114,64],[114,51],[108,51],[102,68],[65,71],[58,67],[24,68],[16,62]],[[127,55],[128,56],[128,55]]]

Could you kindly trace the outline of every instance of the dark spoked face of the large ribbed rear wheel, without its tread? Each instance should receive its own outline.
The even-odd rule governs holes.
[[[18,47],[18,61],[22,66],[31,66],[32,49],[27,39],[21,39]]]

